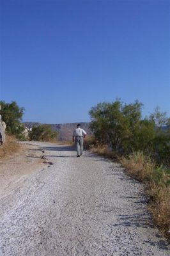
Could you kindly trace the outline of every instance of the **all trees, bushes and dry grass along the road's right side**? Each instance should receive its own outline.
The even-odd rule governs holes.
[[[86,140],[86,147],[117,159],[129,175],[144,182],[153,220],[169,237],[170,118],[158,107],[149,117],[142,118],[142,107],[137,100],[124,104],[118,99],[91,108],[93,137]]]

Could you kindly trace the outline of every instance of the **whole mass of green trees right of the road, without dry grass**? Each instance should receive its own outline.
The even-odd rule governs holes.
[[[111,146],[117,154],[130,154],[132,151],[141,150],[151,154],[158,162],[167,164],[170,129],[165,132],[162,126],[169,124],[169,118],[166,118],[166,113],[161,113],[156,108],[150,118],[143,120],[142,106],[137,100],[133,104],[123,104],[116,100],[112,103],[99,103],[91,108],[90,127],[95,141]]]

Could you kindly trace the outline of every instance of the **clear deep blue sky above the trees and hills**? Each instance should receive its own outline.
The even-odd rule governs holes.
[[[170,1],[0,3],[0,99],[24,122],[88,122],[116,97],[170,116]]]

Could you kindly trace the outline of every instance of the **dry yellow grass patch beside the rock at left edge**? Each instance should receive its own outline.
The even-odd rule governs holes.
[[[0,146],[0,159],[11,156],[20,149],[19,143],[17,143],[15,137],[6,135],[6,141]]]

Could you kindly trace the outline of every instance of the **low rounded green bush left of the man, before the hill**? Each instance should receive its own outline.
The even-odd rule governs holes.
[[[42,124],[37,127],[33,127],[29,134],[29,140],[36,141],[51,141],[56,139],[58,132],[52,131],[51,125]]]

